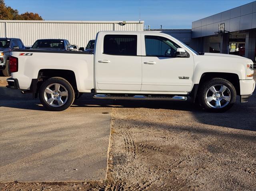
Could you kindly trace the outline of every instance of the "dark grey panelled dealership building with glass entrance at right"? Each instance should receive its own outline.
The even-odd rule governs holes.
[[[192,22],[190,46],[255,61],[256,1]]]

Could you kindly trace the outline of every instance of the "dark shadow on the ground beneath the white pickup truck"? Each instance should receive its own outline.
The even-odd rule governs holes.
[[[40,100],[32,99],[31,96],[31,94],[22,95],[18,90],[0,87],[0,106],[45,110]],[[230,110],[223,113],[205,112],[189,101],[96,100],[90,94],[75,100],[71,107],[152,108],[174,110],[174,112],[186,111],[201,124],[256,131],[256,95],[252,95],[249,102],[243,104],[240,104],[239,98],[237,97],[236,104]]]

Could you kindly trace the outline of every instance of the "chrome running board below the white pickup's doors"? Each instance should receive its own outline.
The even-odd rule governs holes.
[[[187,96],[144,96],[144,95],[135,95],[135,96],[108,96],[104,94],[95,94],[93,95],[95,99],[121,99],[121,100],[173,100],[173,101],[186,101]]]

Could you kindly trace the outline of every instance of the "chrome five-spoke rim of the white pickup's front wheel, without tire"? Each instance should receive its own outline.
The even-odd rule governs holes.
[[[206,91],[205,99],[212,108],[224,108],[230,102],[231,93],[228,87],[216,84]]]

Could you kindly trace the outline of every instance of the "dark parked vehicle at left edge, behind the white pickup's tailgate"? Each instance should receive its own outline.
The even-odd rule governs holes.
[[[13,49],[25,49],[21,39],[18,38],[0,38],[0,70],[4,76],[10,76],[9,57]]]

